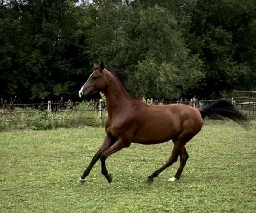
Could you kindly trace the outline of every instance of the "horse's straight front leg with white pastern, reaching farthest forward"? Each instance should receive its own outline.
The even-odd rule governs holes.
[[[106,136],[105,139],[103,140],[102,146],[99,148],[99,150],[96,152],[96,154],[93,156],[93,159],[91,160],[89,166],[86,168],[86,170],[84,171],[83,175],[81,176],[81,178],[79,179],[79,181],[77,182],[78,184],[84,184],[85,182],[85,177],[89,175],[90,171],[92,170],[93,166],[95,165],[95,163],[99,160],[101,154],[107,150],[109,147],[111,147],[111,145],[113,144],[113,141],[111,139],[111,137]]]

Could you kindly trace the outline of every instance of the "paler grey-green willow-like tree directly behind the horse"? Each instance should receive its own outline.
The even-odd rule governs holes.
[[[123,68],[137,96],[179,98],[203,77],[200,60],[189,54],[168,9],[104,1],[89,14],[94,23],[87,53],[110,70]]]

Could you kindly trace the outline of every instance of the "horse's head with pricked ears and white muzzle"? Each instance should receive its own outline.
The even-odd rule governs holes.
[[[103,70],[103,62],[101,62],[100,67],[97,67],[95,64],[93,65],[93,73],[78,92],[80,98],[98,91],[103,91],[106,88],[107,80]]]

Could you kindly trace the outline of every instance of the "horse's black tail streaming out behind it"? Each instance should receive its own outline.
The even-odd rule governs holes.
[[[201,108],[199,111],[203,119],[205,116],[214,120],[224,120],[225,118],[229,118],[245,128],[250,126],[247,116],[236,109],[232,105],[232,102],[227,99],[219,99],[209,106]]]

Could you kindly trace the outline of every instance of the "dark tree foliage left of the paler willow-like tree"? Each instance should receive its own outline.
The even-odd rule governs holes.
[[[11,0],[0,10],[1,96],[73,97],[87,68],[79,53],[81,9],[71,0]]]

